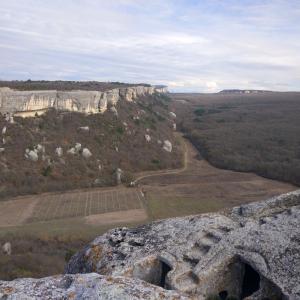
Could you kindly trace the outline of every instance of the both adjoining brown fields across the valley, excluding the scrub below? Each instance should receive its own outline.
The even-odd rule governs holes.
[[[201,159],[189,141],[177,136],[185,148],[183,168],[141,173],[136,188],[46,193],[0,202],[0,228],[71,218],[104,224],[87,221],[108,220],[106,214],[112,212],[114,221],[109,224],[116,225],[124,222],[123,212],[130,216],[132,211],[126,222],[145,221],[146,215],[160,219],[216,211],[296,189],[255,174],[217,169]],[[144,218],[137,219],[134,210],[142,210]]]

